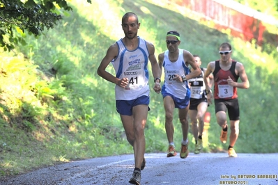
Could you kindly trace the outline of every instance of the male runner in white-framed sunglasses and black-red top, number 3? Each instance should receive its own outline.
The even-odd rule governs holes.
[[[238,156],[233,149],[239,134],[240,123],[240,108],[238,104],[237,88],[249,88],[249,80],[245,73],[245,67],[242,63],[234,61],[231,58],[232,48],[227,42],[224,42],[219,47],[220,59],[208,63],[206,73],[203,77],[206,84],[206,93],[208,103],[212,103],[212,98],[215,98],[215,114],[217,123],[222,127],[220,140],[226,143],[228,136],[227,115],[228,111],[230,120],[230,143],[228,154],[231,157]],[[209,75],[213,73],[214,77],[214,94],[209,86]],[[240,78],[241,82],[238,82]]]

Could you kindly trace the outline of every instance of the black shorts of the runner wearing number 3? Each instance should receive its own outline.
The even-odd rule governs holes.
[[[228,109],[229,119],[236,121],[240,120],[240,106],[238,98],[235,99],[215,99],[215,113]]]

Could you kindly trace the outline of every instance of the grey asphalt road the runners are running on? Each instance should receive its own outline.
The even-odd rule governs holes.
[[[141,172],[141,184],[278,184],[278,153],[193,154],[186,159],[166,154],[146,154],[146,168]],[[0,184],[129,184],[134,159],[132,154],[107,156],[72,161],[42,168],[10,179]]]

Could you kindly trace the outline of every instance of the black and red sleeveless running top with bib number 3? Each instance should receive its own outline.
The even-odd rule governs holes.
[[[215,99],[235,99],[238,97],[237,88],[230,86],[227,79],[231,77],[233,81],[238,81],[238,75],[235,74],[235,64],[237,61],[232,61],[229,70],[222,70],[219,61],[215,61],[215,70],[213,72],[215,86],[214,97]]]

